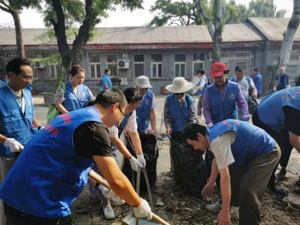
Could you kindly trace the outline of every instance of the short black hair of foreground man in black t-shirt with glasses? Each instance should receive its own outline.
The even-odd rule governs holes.
[[[121,108],[126,105],[123,92],[116,88],[101,91],[95,99],[95,104],[100,104],[103,108],[108,108],[115,103],[118,103]]]

